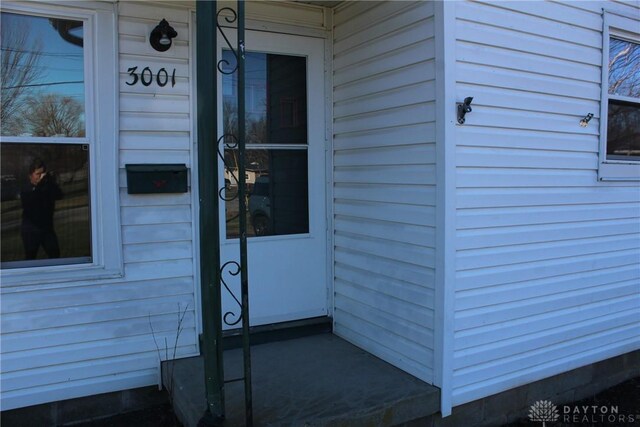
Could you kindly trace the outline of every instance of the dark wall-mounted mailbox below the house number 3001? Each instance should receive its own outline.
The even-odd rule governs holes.
[[[129,194],[186,193],[184,164],[126,165]]]

